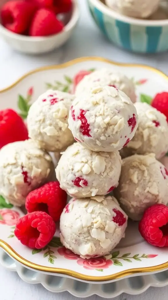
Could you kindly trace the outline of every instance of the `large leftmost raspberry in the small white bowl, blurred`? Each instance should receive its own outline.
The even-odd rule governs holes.
[[[36,4],[28,1],[8,1],[1,8],[2,25],[18,34],[24,33],[30,26],[36,11]]]

